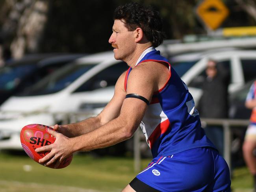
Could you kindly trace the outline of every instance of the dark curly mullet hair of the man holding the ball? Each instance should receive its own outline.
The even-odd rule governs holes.
[[[158,11],[139,3],[129,3],[115,9],[114,20],[123,20],[128,31],[141,28],[152,46],[159,46],[165,37],[163,22]]]

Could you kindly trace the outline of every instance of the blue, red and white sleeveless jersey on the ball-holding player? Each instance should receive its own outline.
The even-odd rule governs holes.
[[[153,157],[168,156],[198,147],[215,148],[201,127],[193,97],[168,60],[154,49],[138,65],[147,61],[165,62],[170,70],[168,81],[153,94],[141,122],[141,129]],[[130,67],[126,72],[125,90],[131,70]]]

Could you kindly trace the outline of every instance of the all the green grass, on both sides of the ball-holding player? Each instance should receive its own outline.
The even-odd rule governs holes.
[[[150,159],[142,160],[142,168]],[[31,170],[24,170],[29,165]],[[0,153],[0,192],[25,192],[40,190],[48,192],[121,191],[137,174],[132,158],[93,157],[74,155],[72,163],[63,169],[46,168],[26,155]],[[233,171],[234,191],[250,191],[252,177],[247,168]]]

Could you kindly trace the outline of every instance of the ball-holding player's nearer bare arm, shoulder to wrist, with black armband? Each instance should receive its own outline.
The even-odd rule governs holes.
[[[132,70],[128,78],[127,94],[135,93],[151,100],[153,92],[161,88],[169,77],[169,70],[166,66],[161,65],[153,71],[152,66],[154,65],[156,63],[141,65]],[[117,118],[95,131],[74,138],[75,150],[90,151],[104,148],[132,137],[146,110],[147,104],[144,101],[137,98],[126,98]],[[86,142],[79,142],[83,140]]]

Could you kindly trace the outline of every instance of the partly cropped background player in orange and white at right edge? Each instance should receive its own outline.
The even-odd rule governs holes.
[[[253,151],[256,149],[256,81],[254,81],[250,87],[245,106],[248,109],[252,109],[252,114],[250,116],[250,124],[245,133],[243,157],[254,177],[254,190],[256,191],[256,157],[253,154]]]

